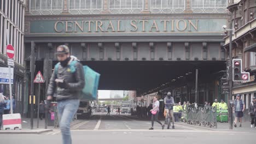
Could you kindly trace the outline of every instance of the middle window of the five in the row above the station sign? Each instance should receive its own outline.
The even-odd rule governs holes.
[[[110,13],[141,13],[142,9],[141,0],[109,0]]]

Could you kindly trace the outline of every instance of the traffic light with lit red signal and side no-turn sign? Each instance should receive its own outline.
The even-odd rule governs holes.
[[[242,59],[232,60],[233,81],[249,81],[250,74],[242,72]]]

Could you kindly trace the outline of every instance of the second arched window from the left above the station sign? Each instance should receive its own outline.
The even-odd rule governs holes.
[[[100,14],[102,0],[73,0],[69,1],[69,13],[77,14]]]

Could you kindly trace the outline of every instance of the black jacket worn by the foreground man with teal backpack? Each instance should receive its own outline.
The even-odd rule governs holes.
[[[72,61],[72,59],[71,59]],[[71,73],[69,65],[67,67],[62,67],[61,64],[57,70],[57,75],[54,71],[51,75],[50,83],[48,86],[47,94],[53,96],[56,88],[55,79],[65,80],[67,83],[67,88],[57,87],[56,91],[56,100],[70,100],[70,99],[79,99],[79,95],[82,92],[82,89],[85,86],[84,78],[84,69],[83,65],[80,62],[75,63],[75,72]]]

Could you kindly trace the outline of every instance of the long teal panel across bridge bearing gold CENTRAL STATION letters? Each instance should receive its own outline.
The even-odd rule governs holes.
[[[225,19],[40,20],[30,34],[40,33],[222,33]]]

